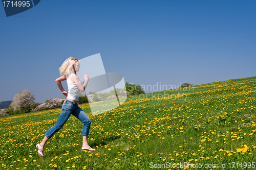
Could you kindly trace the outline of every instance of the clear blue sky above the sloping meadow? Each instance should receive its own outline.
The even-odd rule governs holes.
[[[106,72],[140,85],[256,76],[255,9],[256,1],[41,1],[6,17],[0,5],[0,102],[24,89],[36,102],[64,98],[55,83],[62,62],[98,53]]]

